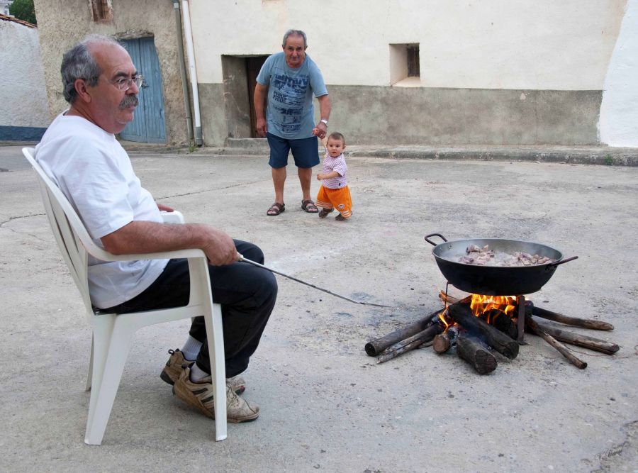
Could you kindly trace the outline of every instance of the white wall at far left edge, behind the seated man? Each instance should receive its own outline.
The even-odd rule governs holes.
[[[49,126],[38,30],[0,20],[0,125]]]

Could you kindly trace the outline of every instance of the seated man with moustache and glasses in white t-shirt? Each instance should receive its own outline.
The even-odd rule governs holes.
[[[96,245],[113,255],[200,248],[208,257],[213,301],[222,306],[226,406],[229,422],[252,421],[259,406],[237,396],[247,366],[272,312],[277,284],[264,269],[238,262],[237,252],[260,263],[252,243],[233,240],[201,224],[162,223],[156,204],[133,172],[116,140],[133,120],[142,76],[128,52],[108,36],[91,35],[62,58],[62,84],[69,110],[51,123],[35,150],[44,171],[67,196]],[[91,304],[115,313],[185,306],[188,260],[103,262],[89,257]],[[193,319],[181,350],[162,369],[174,394],[214,416],[211,365],[203,317]]]

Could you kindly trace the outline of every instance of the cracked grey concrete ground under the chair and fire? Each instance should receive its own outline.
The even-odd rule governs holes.
[[[252,240],[279,299],[245,377],[262,415],[214,423],[159,379],[186,321],[140,330],[103,445],[83,443],[90,330],[48,228],[35,176],[0,148],[1,471],[636,472],[638,469],[638,169],[536,162],[351,157],[350,221],[303,213],[289,169],[286,212],[267,217],[267,157],[133,157],[142,184],[188,221]],[[313,193],[318,190],[313,181]],[[372,338],[440,307],[444,288],[423,235],[546,243],[578,260],[529,299],[615,325],[571,329],[620,345],[574,347],[570,365],[527,335],[515,360],[479,376],[456,355],[415,350],[382,365]]]

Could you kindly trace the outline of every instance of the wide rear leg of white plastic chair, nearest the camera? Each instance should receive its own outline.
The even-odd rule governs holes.
[[[99,316],[102,318],[105,316]],[[108,316],[106,316],[108,317]],[[131,328],[125,321],[118,320],[113,316],[113,322],[104,323],[100,329],[103,332],[98,335],[99,323],[94,325],[95,357],[93,389],[91,389],[91,401],[89,404],[89,418],[86,421],[86,435],[84,443],[89,445],[100,445],[106,423],[111,416],[111,408],[115,400],[124,364],[128,351],[130,350],[130,340],[133,337],[135,328]],[[110,333],[108,325],[111,325]],[[99,340],[99,339],[102,340]],[[98,360],[101,363],[98,365]]]

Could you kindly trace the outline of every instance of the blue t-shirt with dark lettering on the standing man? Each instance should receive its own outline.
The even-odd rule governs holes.
[[[328,94],[315,62],[306,55],[301,67],[293,69],[284,52],[277,52],[264,62],[257,82],[268,87],[268,133],[291,140],[310,138],[315,126],[313,94]]]

